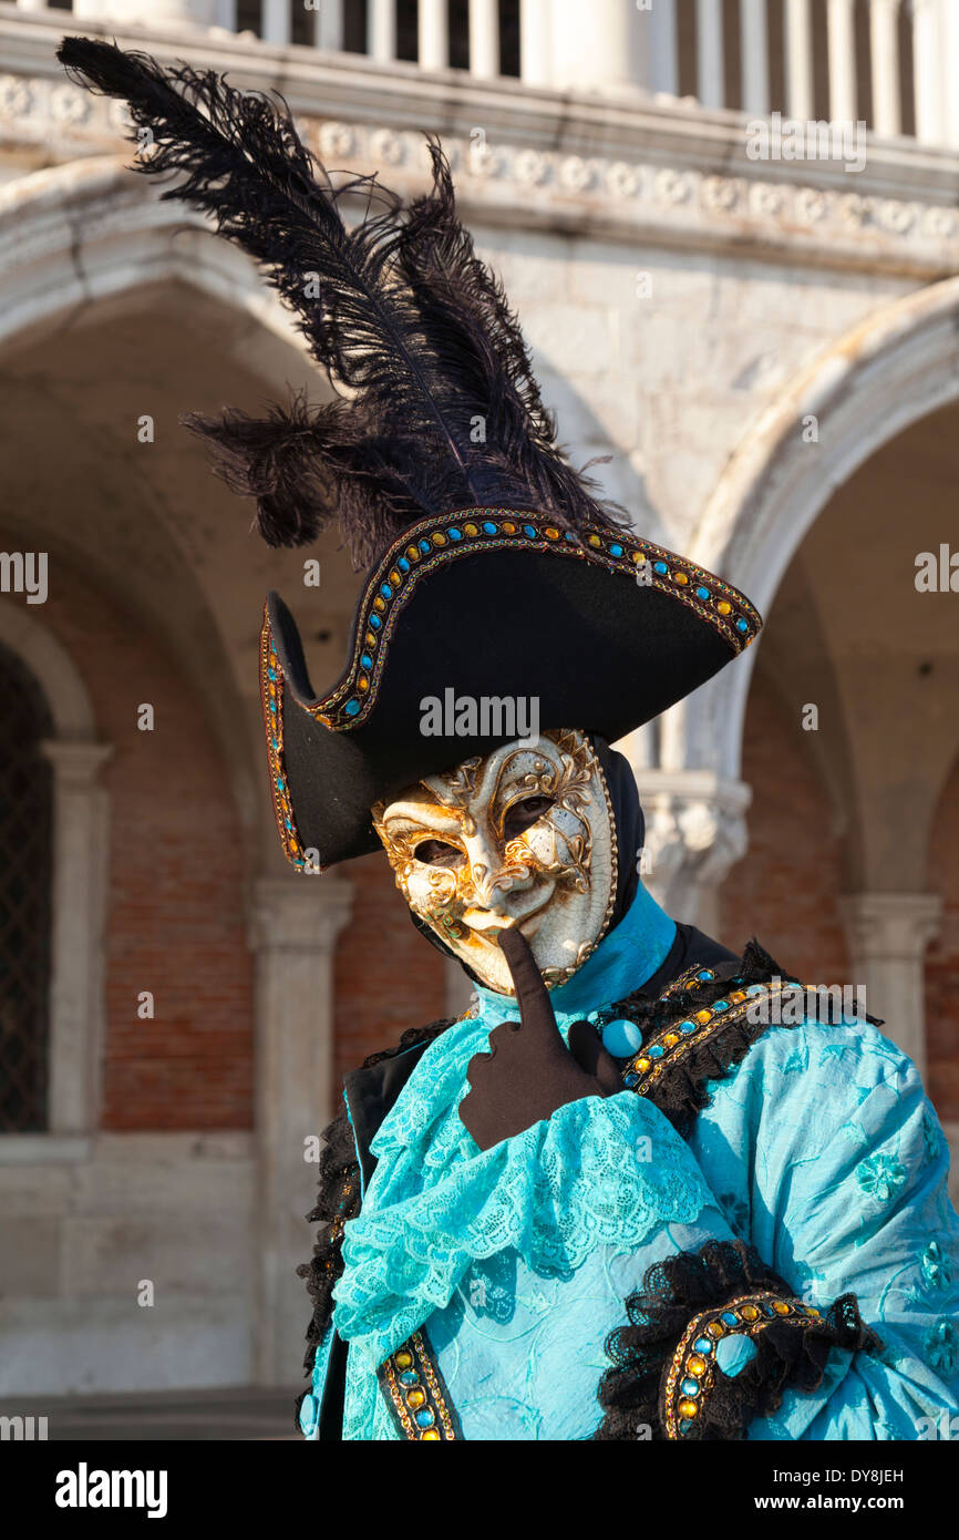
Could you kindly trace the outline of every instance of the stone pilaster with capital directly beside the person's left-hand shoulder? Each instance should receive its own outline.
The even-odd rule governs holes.
[[[334,1112],[332,958],[349,918],[342,878],[263,878],[249,944],[257,958],[257,1260],[256,1377],[296,1384],[309,1301],[296,1277],[312,1247],[305,1215],[317,1167],[306,1160]]]

